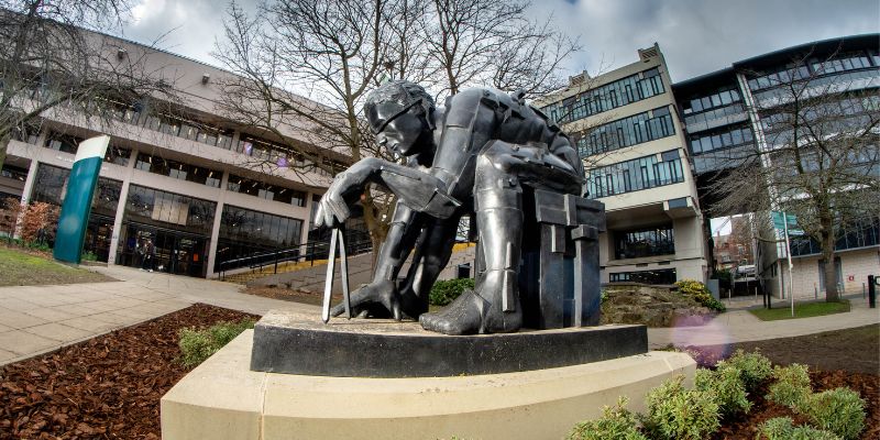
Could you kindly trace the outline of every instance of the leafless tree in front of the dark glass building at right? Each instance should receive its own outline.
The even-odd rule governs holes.
[[[822,249],[827,301],[838,300],[833,264],[838,231],[876,221],[880,202],[880,97],[858,80],[828,76],[838,58],[807,56],[782,72],[748,73],[766,87],[750,106],[765,139],[710,186],[721,200],[719,213],[756,212],[754,218],[763,221],[771,210],[795,215]]]

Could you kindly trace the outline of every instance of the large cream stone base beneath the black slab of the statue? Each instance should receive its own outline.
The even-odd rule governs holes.
[[[650,388],[696,367],[683,353],[649,352],[479,376],[304,376],[251,371],[252,341],[242,333],[162,398],[165,440],[560,439],[618,396],[644,411]]]

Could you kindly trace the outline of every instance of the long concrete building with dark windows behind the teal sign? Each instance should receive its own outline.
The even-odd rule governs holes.
[[[308,239],[315,201],[331,182],[285,144],[305,143],[302,121],[285,121],[284,139],[218,114],[218,85],[231,74],[111,36],[108,59],[146,61],[169,78],[176,102],[101,102],[111,122],[48,111],[11,141],[0,197],[61,205],[78,143],[111,136],[88,223],[85,250],[110,264],[139,266],[136,249],[155,244],[157,271],[212,276],[222,262],[289,249]],[[172,110],[158,110],[172,109]],[[284,141],[284,142],[280,142]],[[314,148],[342,168],[348,157]],[[234,268],[227,264],[224,268]]]

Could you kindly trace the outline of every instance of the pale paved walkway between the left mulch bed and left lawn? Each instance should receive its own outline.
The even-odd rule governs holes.
[[[264,315],[271,309],[320,314],[298,302],[239,293],[231,283],[95,267],[120,279],[58,286],[0,287],[0,365],[170,314],[195,302]]]

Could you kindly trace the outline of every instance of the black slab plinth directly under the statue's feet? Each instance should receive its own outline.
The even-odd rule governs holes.
[[[546,370],[648,352],[645,326],[449,337],[418,322],[271,311],[254,327],[251,370],[315,376],[432,377]]]

